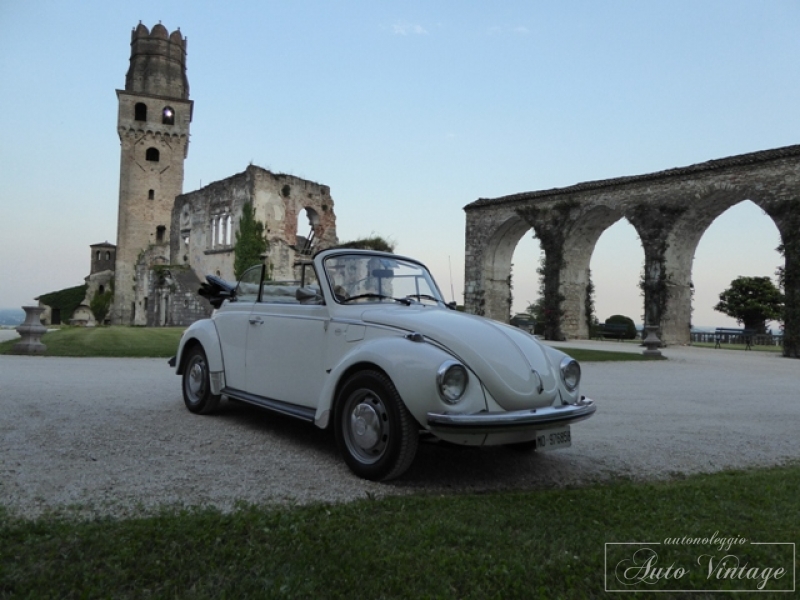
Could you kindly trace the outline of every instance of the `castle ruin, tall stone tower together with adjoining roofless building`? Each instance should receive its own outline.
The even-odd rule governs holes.
[[[179,30],[169,33],[161,24],[149,31],[140,23],[131,33],[125,89],[117,90],[114,324],[187,325],[208,316],[211,307],[197,290],[209,273],[234,278],[234,243],[245,202],[253,203],[256,219],[265,224],[275,279],[293,278],[298,253],[336,243],[333,200],[324,185],[251,165],[182,194],[193,110],[186,48]],[[303,213],[308,237],[297,231]],[[96,277],[94,262],[92,269],[90,279]],[[87,305],[90,300],[87,295]]]

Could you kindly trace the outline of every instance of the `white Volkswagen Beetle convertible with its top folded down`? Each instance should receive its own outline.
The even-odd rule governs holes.
[[[421,436],[551,450],[595,412],[575,360],[453,310],[416,260],[334,249],[301,269],[290,284],[263,265],[235,286],[208,278],[217,310],[170,362],[191,412],[226,396],[333,427],[347,465],[372,480],[405,472]]]

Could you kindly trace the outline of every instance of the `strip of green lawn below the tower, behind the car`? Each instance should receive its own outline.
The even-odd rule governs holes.
[[[174,356],[185,327],[62,327],[42,336],[44,356]],[[8,354],[18,340],[0,344]]]

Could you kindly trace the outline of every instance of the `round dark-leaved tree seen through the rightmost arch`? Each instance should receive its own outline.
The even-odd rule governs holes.
[[[745,329],[765,333],[767,321],[783,316],[783,294],[769,277],[737,277],[719,295],[714,310],[733,317]]]

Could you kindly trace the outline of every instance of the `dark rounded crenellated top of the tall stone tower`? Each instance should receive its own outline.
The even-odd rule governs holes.
[[[187,43],[180,28],[169,33],[159,22],[150,31],[140,21],[131,32],[131,62],[125,76],[125,91],[187,100]]]

